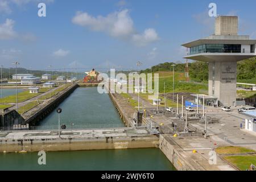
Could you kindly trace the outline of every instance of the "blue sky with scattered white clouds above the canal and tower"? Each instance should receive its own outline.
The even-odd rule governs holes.
[[[217,14],[238,15],[240,34],[256,39],[255,0],[0,0],[0,64],[135,69],[138,60],[143,68],[184,61],[180,44],[213,34],[210,2]]]

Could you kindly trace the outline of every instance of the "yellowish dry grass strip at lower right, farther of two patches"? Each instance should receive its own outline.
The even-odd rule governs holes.
[[[255,152],[254,150],[250,150],[245,147],[234,147],[234,146],[228,146],[228,147],[218,147],[215,150],[218,154],[245,154],[247,152]]]

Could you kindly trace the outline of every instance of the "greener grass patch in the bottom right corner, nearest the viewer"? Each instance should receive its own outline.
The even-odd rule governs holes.
[[[232,163],[242,171],[249,169],[251,164],[256,165],[256,155],[245,155],[245,156],[225,156],[225,160]]]

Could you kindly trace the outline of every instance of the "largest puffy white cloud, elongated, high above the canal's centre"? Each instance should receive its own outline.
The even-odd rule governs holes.
[[[143,34],[137,34],[129,10],[115,11],[107,16],[91,16],[88,13],[77,12],[72,22],[92,31],[106,32],[114,38],[132,40],[138,46],[146,46],[158,40],[158,34],[153,28],[146,29]]]

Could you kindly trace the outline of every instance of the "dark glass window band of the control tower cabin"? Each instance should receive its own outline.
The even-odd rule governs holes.
[[[203,44],[190,48],[190,55],[197,53],[241,53],[241,44]]]

